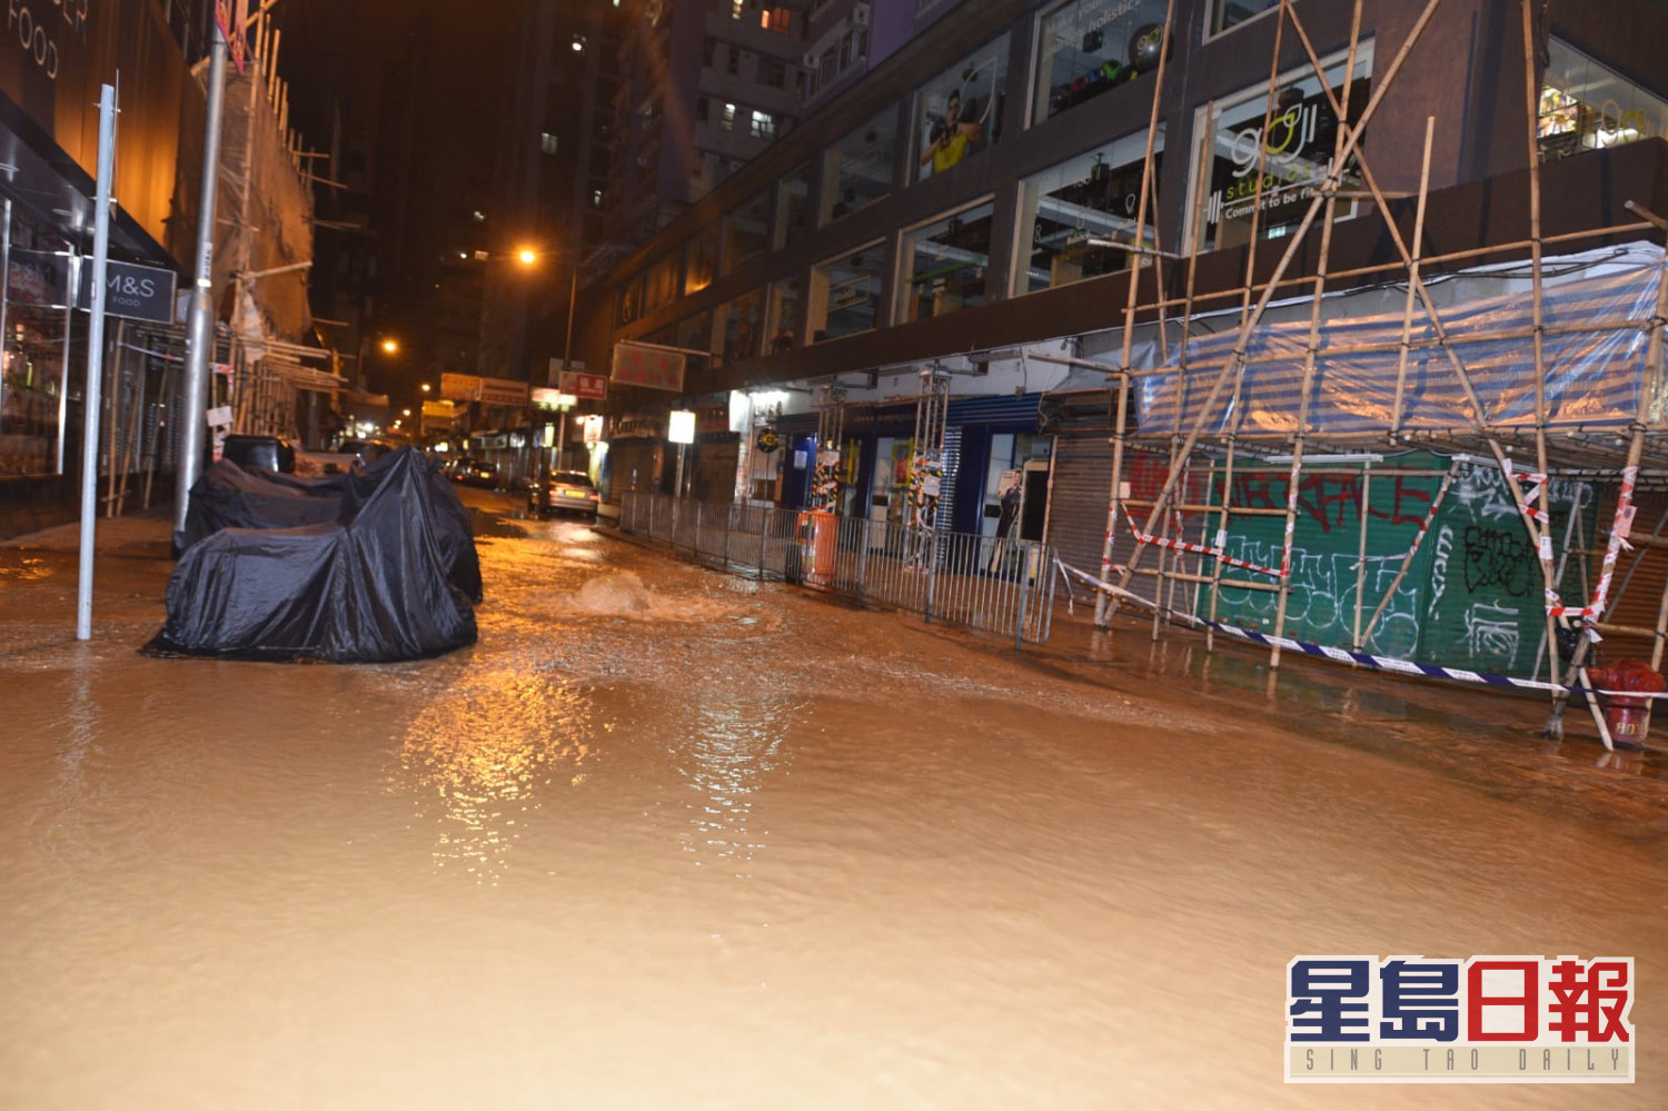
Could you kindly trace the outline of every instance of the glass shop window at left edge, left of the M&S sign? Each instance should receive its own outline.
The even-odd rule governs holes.
[[[0,477],[62,470],[73,262],[62,250],[12,247],[0,337]]]

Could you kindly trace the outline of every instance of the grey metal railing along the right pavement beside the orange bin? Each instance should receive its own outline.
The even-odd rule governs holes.
[[[697,562],[1011,636],[1016,647],[1046,642],[1053,626],[1053,550],[1036,540],[637,492],[622,497],[620,529]]]

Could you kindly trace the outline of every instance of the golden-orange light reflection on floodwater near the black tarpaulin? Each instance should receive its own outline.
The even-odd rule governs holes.
[[[469,672],[410,724],[392,789],[410,791],[419,822],[437,826],[437,867],[497,884],[549,789],[585,781],[590,732],[590,701],[564,679]]]

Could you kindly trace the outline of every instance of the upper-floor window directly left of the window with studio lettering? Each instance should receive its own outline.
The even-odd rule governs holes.
[[[1164,150],[1163,128],[1153,145],[1153,183]],[[1129,267],[1138,257],[1124,247],[1136,242],[1141,209],[1141,167],[1146,133],[1089,150],[1019,183],[1019,250],[1014,292],[1068,285]],[[1151,214],[1144,245],[1154,245]]]

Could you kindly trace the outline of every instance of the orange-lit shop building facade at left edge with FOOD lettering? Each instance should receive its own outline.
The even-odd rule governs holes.
[[[72,282],[92,252],[100,87],[115,85],[118,73],[110,257],[163,270],[190,257],[203,95],[187,57],[203,48],[208,10],[207,0],[15,3],[8,10],[0,40],[0,143],[7,152],[0,182],[0,535],[73,515],[88,317],[75,307]],[[170,440],[167,422],[155,410],[150,415],[145,445],[155,454]]]

